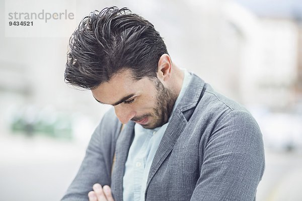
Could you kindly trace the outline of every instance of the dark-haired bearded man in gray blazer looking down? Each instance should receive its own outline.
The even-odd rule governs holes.
[[[95,11],[69,49],[66,82],[113,109],[62,200],[255,200],[264,171],[257,123],[177,67],[151,23],[125,8]]]

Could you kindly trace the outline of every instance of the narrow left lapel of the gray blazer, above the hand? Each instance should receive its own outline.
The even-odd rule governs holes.
[[[112,170],[111,190],[115,201],[123,200],[123,176],[128,151],[134,137],[134,122],[125,125],[116,142],[116,161]]]

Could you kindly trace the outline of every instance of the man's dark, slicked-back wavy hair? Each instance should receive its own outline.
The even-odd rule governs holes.
[[[127,8],[105,8],[85,17],[69,39],[65,82],[87,89],[131,69],[135,80],[157,76],[167,53],[154,26]]]

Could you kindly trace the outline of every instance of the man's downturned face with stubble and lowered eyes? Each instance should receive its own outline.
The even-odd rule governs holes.
[[[123,124],[134,121],[146,129],[154,129],[167,123],[176,96],[158,78],[136,81],[130,72],[119,72],[92,89],[93,96],[98,102],[113,105]]]

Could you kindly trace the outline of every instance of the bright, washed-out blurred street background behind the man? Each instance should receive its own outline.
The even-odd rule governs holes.
[[[153,23],[174,62],[253,114],[266,151],[257,200],[302,200],[300,0],[0,0],[0,200],[59,200],[77,173],[109,107],[64,83],[67,44],[83,17],[109,6]],[[74,19],[8,26],[9,12],[42,9]]]

